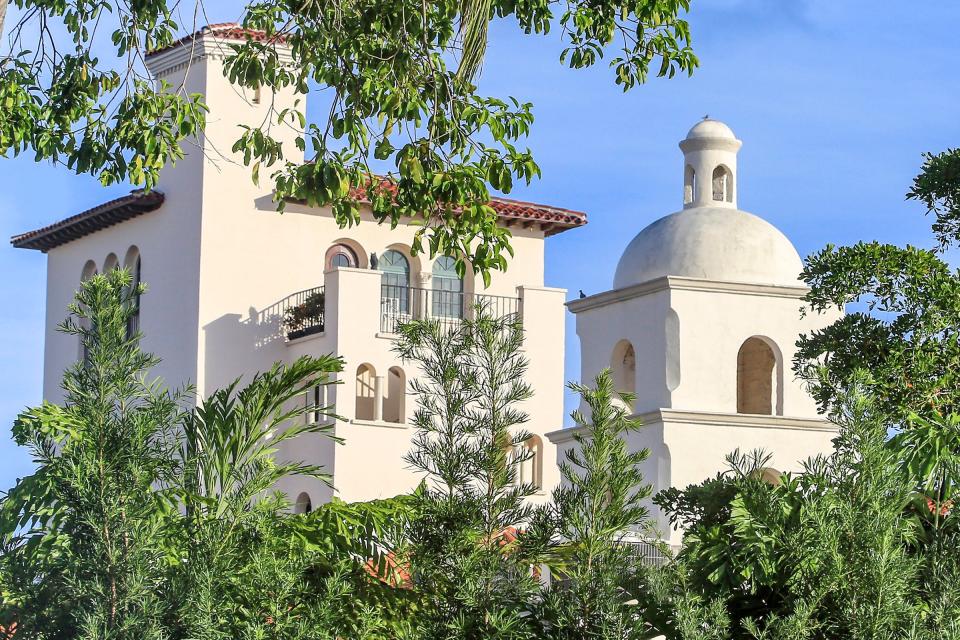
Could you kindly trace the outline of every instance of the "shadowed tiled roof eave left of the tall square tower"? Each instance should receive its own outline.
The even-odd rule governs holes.
[[[71,240],[155,211],[162,204],[163,194],[159,191],[131,191],[129,195],[104,202],[75,216],[13,236],[10,244],[18,249],[39,249],[46,253]]]

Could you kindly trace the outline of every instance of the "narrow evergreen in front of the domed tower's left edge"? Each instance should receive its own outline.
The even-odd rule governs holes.
[[[625,541],[650,533],[644,501],[651,488],[640,471],[650,451],[629,450],[625,438],[641,425],[627,408],[633,396],[614,389],[609,370],[593,388],[569,386],[589,414],[573,414],[580,431],[560,464],[563,482],[553,493],[566,570],[553,576],[543,624],[558,639],[643,637],[636,598],[644,568]]]

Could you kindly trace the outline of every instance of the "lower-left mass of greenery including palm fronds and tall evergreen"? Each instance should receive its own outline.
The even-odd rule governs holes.
[[[192,406],[147,378],[157,359],[127,329],[142,292],[121,270],[82,285],[62,327],[85,347],[66,402],[14,427],[37,470],[0,501],[0,625],[40,639],[390,637],[411,605],[376,568],[407,500],[294,516],[269,493],[323,477],[275,454],[329,437],[299,398],[340,361],[277,365]]]

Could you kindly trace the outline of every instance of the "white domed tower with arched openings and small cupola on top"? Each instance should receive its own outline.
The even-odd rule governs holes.
[[[835,435],[790,363],[801,333],[838,316],[801,316],[796,249],[737,209],[740,145],[722,122],[695,125],[680,143],[683,209],[637,234],[611,290],[567,305],[581,380],[610,367],[617,387],[636,394],[632,409],[646,426],[629,444],[650,449],[644,475],[655,492],[703,481],[737,448],[765,449],[775,470],[799,470]],[[549,434],[559,455],[574,433]],[[680,532],[655,515],[679,544]]]

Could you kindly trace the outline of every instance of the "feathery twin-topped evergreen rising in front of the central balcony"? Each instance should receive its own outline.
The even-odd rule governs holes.
[[[456,326],[415,321],[400,330],[398,353],[422,371],[413,382],[419,406],[407,456],[424,475],[415,495],[409,559],[423,639],[534,638],[531,567],[545,536],[524,530],[535,487],[518,483],[526,459],[519,404],[523,331],[515,317],[478,306]]]

